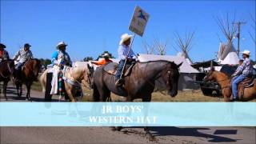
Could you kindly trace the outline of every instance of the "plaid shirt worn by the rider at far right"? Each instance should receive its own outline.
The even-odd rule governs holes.
[[[253,74],[253,65],[249,58],[246,58],[241,66],[238,66],[233,75],[245,74],[246,76]]]

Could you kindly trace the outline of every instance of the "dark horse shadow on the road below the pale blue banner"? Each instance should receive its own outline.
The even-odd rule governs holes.
[[[214,134],[205,134],[199,132],[198,130],[210,130],[210,128],[202,127],[191,127],[191,128],[182,128],[174,126],[154,126],[150,127],[150,130],[153,132],[154,136],[191,136],[191,137],[200,137],[207,138],[208,142],[237,142],[238,139],[226,138],[222,136],[217,136],[214,134],[237,134],[238,130],[216,130]]]

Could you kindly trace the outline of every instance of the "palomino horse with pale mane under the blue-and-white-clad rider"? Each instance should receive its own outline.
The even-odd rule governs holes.
[[[46,69],[39,78],[43,92],[46,92],[46,74],[48,72],[49,69]],[[75,95],[77,94],[78,89],[81,88],[80,86],[90,89],[91,75],[92,73],[88,63],[84,66],[66,66],[66,69],[63,70],[63,76],[65,77],[64,87],[71,102],[75,102]]]

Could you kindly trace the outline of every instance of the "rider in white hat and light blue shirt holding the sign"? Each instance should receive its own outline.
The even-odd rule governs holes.
[[[127,64],[130,64],[136,59],[136,55],[134,54],[134,51],[130,49],[130,38],[132,38],[132,35],[129,34],[122,34],[121,41],[119,42],[119,48],[118,48],[118,58],[120,59],[117,73],[115,74],[115,86],[122,86],[122,68],[125,65],[125,61],[127,59]],[[128,54],[128,51],[130,49],[130,52]]]

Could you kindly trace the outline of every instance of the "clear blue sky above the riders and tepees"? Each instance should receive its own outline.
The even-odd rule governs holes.
[[[73,61],[87,56],[98,58],[108,50],[118,57],[118,43],[128,29],[134,7],[140,6],[148,14],[143,37],[135,36],[133,50],[145,54],[143,42],[154,39],[168,42],[166,54],[176,55],[175,33],[185,38],[195,31],[189,52],[193,62],[215,58],[219,38],[226,42],[214,18],[236,17],[245,21],[241,27],[241,50],[250,50],[255,58],[255,1],[58,1],[58,0],[1,0],[0,39],[13,56],[29,42],[35,58],[51,58],[60,41],[68,44],[67,52]],[[218,38],[219,35],[219,38]],[[237,40],[234,39],[234,46]],[[177,48],[177,47],[176,47]]]

